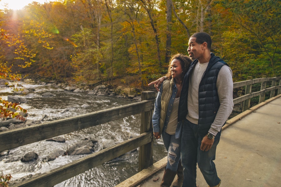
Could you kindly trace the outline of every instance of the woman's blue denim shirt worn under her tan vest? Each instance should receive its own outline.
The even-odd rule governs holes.
[[[156,100],[155,100],[155,107],[154,107],[154,112],[152,116],[152,124],[153,124],[153,131],[154,132],[160,132],[160,126],[159,126],[159,121],[160,121],[160,111],[161,111],[161,97],[162,97],[162,92],[163,92],[163,84],[160,87],[160,91],[157,94]],[[164,127],[163,127],[163,132],[165,132],[168,122],[169,122],[169,117],[172,111],[172,106],[175,101],[175,96],[177,94],[178,88],[176,87],[175,84],[173,84],[173,93],[169,101],[169,105],[167,108],[167,113],[165,117],[165,122],[164,122]],[[181,137],[181,132],[182,132],[182,122],[178,122],[176,131],[175,131],[175,138],[180,138]],[[162,133],[161,133],[162,134]]]

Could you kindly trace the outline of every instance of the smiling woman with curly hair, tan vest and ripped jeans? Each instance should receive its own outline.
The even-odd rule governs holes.
[[[180,162],[181,122],[178,122],[178,106],[182,88],[183,76],[187,72],[192,60],[183,54],[171,57],[168,80],[165,80],[158,92],[152,117],[153,135],[160,136],[168,151],[168,162],[161,181],[162,187],[169,187],[175,175],[178,179],[173,187],[181,186],[183,182],[182,166]]]

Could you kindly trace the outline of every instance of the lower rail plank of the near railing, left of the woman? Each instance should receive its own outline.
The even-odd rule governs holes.
[[[110,161],[121,156],[128,151],[134,150],[141,145],[145,145],[152,141],[152,132],[143,133],[137,137],[123,141],[115,146],[98,151],[82,159],[73,161],[69,164],[53,169],[42,175],[38,175],[30,180],[14,185],[14,187],[50,187],[102,163]]]

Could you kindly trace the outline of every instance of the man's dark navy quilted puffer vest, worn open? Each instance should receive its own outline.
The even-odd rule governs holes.
[[[180,104],[178,111],[178,120],[184,120],[187,110],[187,94],[189,87],[189,76],[198,60],[194,60],[187,73],[185,74],[183,87],[180,95]],[[207,66],[202,80],[199,84],[198,102],[199,102],[199,120],[198,120],[198,133],[200,136],[205,136],[214,122],[217,111],[219,109],[219,96],[216,87],[216,81],[219,70],[223,65],[227,65],[218,56],[211,53],[211,59]]]

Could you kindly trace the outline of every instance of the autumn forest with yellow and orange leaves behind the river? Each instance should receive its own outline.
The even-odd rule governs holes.
[[[145,89],[205,31],[234,82],[281,73],[278,0],[57,0],[0,11],[0,78]]]

